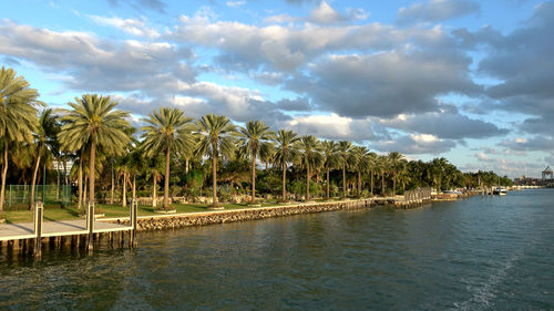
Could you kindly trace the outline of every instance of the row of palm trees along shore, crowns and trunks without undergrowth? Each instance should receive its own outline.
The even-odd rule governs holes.
[[[12,151],[13,163],[20,159],[16,156],[21,149],[29,149],[34,160],[31,179],[31,206],[34,199],[34,186],[41,160],[52,157],[73,157],[79,185],[79,208],[85,200],[95,200],[96,175],[104,169],[112,169],[112,197],[114,191],[114,163],[119,166],[123,178],[123,190],[126,184],[132,186],[133,197],[136,185],[136,172],[141,159],[154,163],[146,177],[153,180],[154,205],[156,203],[156,185],[164,176],[163,207],[170,208],[171,164],[175,157],[188,160],[193,158],[211,162],[213,207],[217,207],[217,172],[220,159],[232,159],[237,155],[249,160],[250,166],[250,203],[256,203],[256,166],[259,159],[271,164],[274,169],[283,174],[281,199],[287,200],[287,170],[298,167],[306,174],[306,200],[310,200],[310,182],[314,174],[322,169],[326,173],[326,197],[330,198],[330,173],[339,169],[342,175],[342,197],[347,197],[347,172],[356,173],[356,195],[362,195],[362,185],[369,175],[369,193],[373,195],[375,177],[380,177],[381,195],[387,194],[387,176],[392,179],[392,194],[397,194],[397,184],[401,180],[402,188],[413,178],[411,186],[418,180],[429,179],[441,188],[454,173],[462,174],[444,158],[435,159],[429,167],[424,164],[408,162],[400,153],[378,155],[365,146],[352,145],[347,141],[320,141],[314,135],[299,136],[287,129],[274,132],[260,121],[249,121],[244,126],[236,126],[229,118],[222,115],[207,114],[195,121],[177,107],[161,107],[148,114],[141,127],[140,139],[135,137],[136,129],[130,124],[129,112],[116,108],[117,103],[109,96],[84,94],[69,103],[68,110],[52,111],[44,108],[39,115],[38,110],[44,106],[38,101],[37,90],[17,76],[11,69],[0,71],[0,149],[2,151],[0,210],[3,208],[6,176],[9,167],[9,154]],[[135,165],[130,165],[124,158],[134,157]],[[65,162],[63,162],[65,163]],[[138,163],[138,164],[136,164]],[[162,169],[158,164],[165,164]],[[111,167],[110,167],[111,164]],[[421,173],[418,169],[423,169]],[[423,172],[422,170],[422,172]],[[427,174],[427,177],[425,177]],[[89,185],[83,187],[83,175],[88,176]],[[133,180],[131,182],[131,176]],[[461,176],[461,175],[460,175]],[[470,176],[471,177],[471,176]],[[468,177],[468,178],[470,178]],[[473,178],[473,177],[471,177]],[[471,179],[470,178],[470,179]],[[451,183],[452,182],[452,183]],[[419,184],[417,186],[420,186]],[[125,199],[125,196],[123,196]]]

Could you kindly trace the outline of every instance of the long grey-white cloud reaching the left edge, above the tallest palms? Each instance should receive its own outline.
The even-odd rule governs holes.
[[[0,53],[64,76],[70,90],[167,93],[196,72],[185,62],[192,51],[168,42],[102,40],[85,32],[57,32],[0,22]]]

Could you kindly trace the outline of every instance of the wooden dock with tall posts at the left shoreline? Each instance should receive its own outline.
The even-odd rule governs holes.
[[[40,258],[43,243],[49,241],[59,246],[69,241],[75,248],[92,251],[94,241],[100,241],[103,236],[113,243],[114,234],[119,234],[120,245],[123,246],[125,232],[129,232],[129,246],[136,246],[136,200],[130,207],[129,225],[96,220],[94,204],[88,204],[85,219],[78,220],[44,221],[43,209],[43,204],[37,203],[33,222],[0,224],[0,247],[22,249],[25,253]]]

